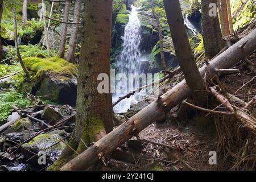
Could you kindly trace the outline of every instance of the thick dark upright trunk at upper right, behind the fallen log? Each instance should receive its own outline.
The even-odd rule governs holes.
[[[201,3],[203,15],[202,28],[205,58],[212,59],[215,55],[217,55],[218,52],[221,51],[222,48],[225,47],[225,42],[221,36],[218,16],[209,16],[209,4],[216,4],[216,0],[202,0]]]

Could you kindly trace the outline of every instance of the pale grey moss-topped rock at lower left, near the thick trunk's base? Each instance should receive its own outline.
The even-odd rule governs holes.
[[[27,160],[29,159],[29,163],[33,166],[40,166],[38,155],[42,156],[42,152],[46,154],[47,162],[49,160],[53,162],[59,158],[61,152],[64,150],[65,144],[60,142],[60,139],[66,136],[67,133],[64,130],[55,130],[51,133],[40,134],[30,142],[22,145],[22,154]]]

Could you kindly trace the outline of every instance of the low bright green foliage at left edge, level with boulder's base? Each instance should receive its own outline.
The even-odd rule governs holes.
[[[11,106],[26,107],[30,104],[23,93],[11,89],[9,92],[0,94],[0,123],[5,121],[11,113]]]

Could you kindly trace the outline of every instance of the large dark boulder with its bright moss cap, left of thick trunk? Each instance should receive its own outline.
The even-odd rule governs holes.
[[[77,66],[59,57],[28,57],[23,60],[32,80],[23,80],[24,92],[60,104],[76,105]]]

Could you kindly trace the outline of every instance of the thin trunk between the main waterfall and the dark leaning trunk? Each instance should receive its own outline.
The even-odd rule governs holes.
[[[158,35],[159,35],[159,46],[160,46],[160,56],[161,56],[161,64],[163,70],[167,70],[166,67],[166,59],[164,58],[164,48],[163,48],[163,34],[162,34],[162,28],[160,27],[160,22],[158,16],[155,14],[155,6],[153,0],[150,0],[152,14],[156,20],[156,28],[158,28]]]

